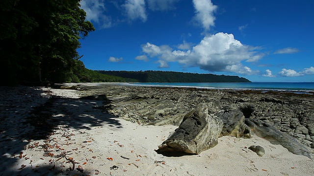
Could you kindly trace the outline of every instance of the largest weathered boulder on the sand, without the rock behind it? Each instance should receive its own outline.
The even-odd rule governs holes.
[[[222,120],[209,115],[207,108],[187,113],[179,128],[158,146],[160,154],[200,154],[218,144]]]

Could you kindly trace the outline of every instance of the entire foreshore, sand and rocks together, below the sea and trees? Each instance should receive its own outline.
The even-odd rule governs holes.
[[[312,176],[313,104],[276,91],[0,87],[0,176]]]

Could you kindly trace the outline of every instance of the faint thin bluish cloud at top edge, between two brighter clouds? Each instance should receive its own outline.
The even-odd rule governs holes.
[[[175,9],[175,3],[179,0],[146,0],[148,8],[153,11],[167,11]]]

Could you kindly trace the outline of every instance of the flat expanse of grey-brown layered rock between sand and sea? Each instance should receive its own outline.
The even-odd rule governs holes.
[[[308,153],[305,154],[307,156],[314,152],[313,94],[119,85],[96,87],[82,85],[77,88],[85,89],[81,92],[82,96],[98,95],[98,99],[104,99],[105,105],[100,107],[104,111],[138,124],[179,126],[185,114],[204,106],[212,114],[240,110],[246,119],[260,120],[279,132],[267,136],[261,134],[261,137],[269,138],[273,143],[284,146],[299,143],[304,146],[302,150]],[[274,140],[276,138],[274,135],[282,134],[285,134],[285,137],[282,137],[284,141]]]

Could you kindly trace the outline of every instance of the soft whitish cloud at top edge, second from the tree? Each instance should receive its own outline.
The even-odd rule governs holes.
[[[141,19],[142,22],[146,22],[147,15],[144,0],[126,0],[122,6],[125,8],[130,20]]]

